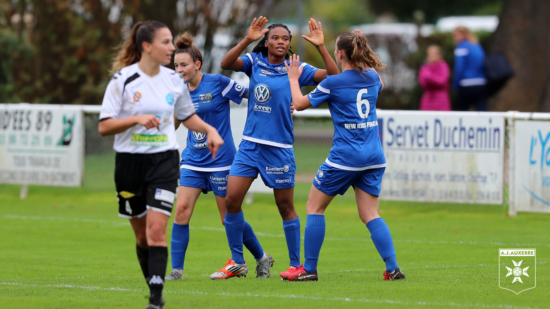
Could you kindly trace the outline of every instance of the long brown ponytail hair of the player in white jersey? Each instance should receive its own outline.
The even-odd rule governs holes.
[[[141,58],[143,42],[152,43],[155,32],[166,25],[156,20],[138,21],[130,32],[130,36],[119,46],[119,52],[114,59],[111,73],[134,64]]]

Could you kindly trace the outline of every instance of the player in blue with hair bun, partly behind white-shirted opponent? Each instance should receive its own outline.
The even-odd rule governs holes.
[[[225,143],[219,148],[216,159],[212,159],[205,134],[189,131],[187,135],[187,147],[182,152],[180,162],[178,202],[175,206],[172,228],[172,272],[166,280],[182,278],[185,252],[189,244],[189,220],[201,192],[214,192],[223,224],[226,214],[227,176],[235,156],[235,144],[229,124],[229,100],[240,104],[248,93],[248,88],[226,76],[202,73],[202,54],[199,48],[193,45],[193,40],[194,37],[189,32],[176,38],[175,70],[189,83],[187,87],[195,113],[206,123],[214,126]],[[179,126],[179,123],[176,123],[176,126]],[[256,277],[270,277],[273,258],[263,252],[260,242],[246,221],[243,244],[256,258]],[[218,278],[214,275],[212,279]]]

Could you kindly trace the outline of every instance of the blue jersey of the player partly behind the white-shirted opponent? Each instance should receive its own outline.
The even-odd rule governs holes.
[[[235,156],[235,144],[229,119],[229,100],[240,104],[248,88],[221,74],[203,74],[199,86],[190,91],[195,113],[212,125],[222,136],[224,144],[216,159],[208,151],[206,134],[189,131],[187,147],[182,151],[183,168],[215,172],[229,170]]]

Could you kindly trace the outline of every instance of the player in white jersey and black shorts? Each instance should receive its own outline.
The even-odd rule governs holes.
[[[212,156],[223,139],[194,113],[182,75],[163,67],[174,45],[166,25],[139,22],[113,63],[101,105],[99,131],[115,135],[114,182],[119,216],[130,219],[141,270],[151,291],[147,308],[162,308],[168,250],[166,226],[178,186],[179,153],[172,114],[208,135]]]

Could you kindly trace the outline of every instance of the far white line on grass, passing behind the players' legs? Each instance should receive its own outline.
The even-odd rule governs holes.
[[[98,220],[98,219],[81,219],[81,218],[62,218],[62,217],[40,217],[40,216],[20,216],[18,214],[0,214],[2,218],[8,219],[20,219],[20,220],[50,220],[50,221],[73,221],[73,222],[85,222],[85,223],[101,223],[101,224],[111,224],[115,227],[129,227],[130,224],[128,221],[117,222],[117,221],[108,221],[108,220]],[[193,227],[190,226],[190,229],[202,229],[202,230],[212,230],[220,231],[226,233],[225,228],[218,227]],[[366,232],[365,232],[366,233]],[[284,238],[284,234],[268,234],[262,233],[260,231],[255,231],[257,236],[263,237],[277,237]],[[366,235],[366,234],[365,234]],[[304,239],[304,238],[302,238]],[[372,242],[370,238],[325,238],[324,240],[329,241],[365,241]],[[548,244],[521,244],[518,242],[500,242],[500,241],[447,241],[447,240],[417,240],[417,239],[406,239],[399,240],[394,239],[394,242],[404,242],[404,243],[414,243],[414,244],[447,244],[447,245],[494,245],[494,246],[530,246],[530,247],[550,247]]]

